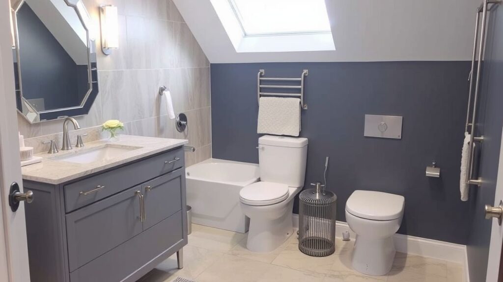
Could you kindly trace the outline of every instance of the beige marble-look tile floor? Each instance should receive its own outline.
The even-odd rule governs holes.
[[[449,261],[397,253],[386,276],[368,276],[351,268],[353,240],[337,240],[336,253],[311,257],[291,236],[270,253],[246,249],[246,234],[193,225],[184,247],[184,268],[177,269],[176,255],[164,260],[138,282],[171,282],[178,276],[196,282],[462,282],[463,267]]]

